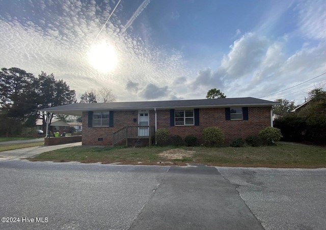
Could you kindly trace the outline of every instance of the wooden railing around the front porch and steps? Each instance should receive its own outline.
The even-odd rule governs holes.
[[[149,139],[149,145],[155,135],[154,126],[126,126],[112,134],[112,145],[116,145],[122,140],[126,140],[128,145],[128,139]]]

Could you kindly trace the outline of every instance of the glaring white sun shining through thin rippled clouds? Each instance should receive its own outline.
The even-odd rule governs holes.
[[[95,69],[104,73],[114,70],[118,63],[114,47],[104,42],[92,45],[88,59]]]

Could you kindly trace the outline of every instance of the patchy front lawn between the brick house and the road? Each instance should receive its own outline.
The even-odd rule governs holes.
[[[177,150],[176,150],[177,149]],[[182,153],[182,157],[171,159],[165,151]],[[171,153],[173,154],[173,153]],[[171,155],[172,156],[172,155]],[[168,158],[169,157],[169,158]],[[203,163],[216,166],[235,167],[326,167],[326,148],[298,143],[279,142],[278,146],[244,148],[205,147],[72,147],[40,154],[33,161],[79,161],[122,164],[185,165]],[[140,163],[141,162],[141,163]]]

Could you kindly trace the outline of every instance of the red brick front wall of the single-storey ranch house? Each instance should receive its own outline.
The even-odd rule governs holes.
[[[271,107],[249,107],[249,120],[225,119],[225,108],[199,109],[199,126],[170,126],[170,109],[157,110],[157,128],[167,128],[171,135],[195,135],[201,142],[204,128],[217,126],[225,134],[226,142],[234,138],[246,138],[248,135],[257,135],[259,130],[270,126]],[[134,122],[134,119],[136,122]],[[112,145],[112,134],[125,126],[138,125],[138,110],[114,111],[114,127],[88,127],[88,112],[83,112],[83,145]],[[154,110],[149,111],[149,125],[155,126]],[[99,141],[98,138],[103,138]]]

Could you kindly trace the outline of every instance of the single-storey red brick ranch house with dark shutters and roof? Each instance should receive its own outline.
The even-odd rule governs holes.
[[[83,145],[151,145],[155,130],[171,135],[195,135],[201,141],[206,127],[218,126],[226,142],[257,135],[273,127],[277,104],[252,97],[175,101],[74,103],[43,109],[83,117]]]

